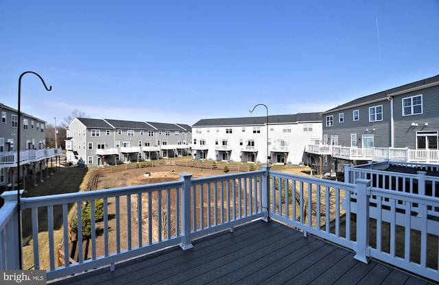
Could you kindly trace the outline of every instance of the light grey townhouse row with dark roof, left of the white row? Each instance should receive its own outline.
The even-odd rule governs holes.
[[[185,156],[188,125],[75,118],[67,127],[67,161],[103,166]]]

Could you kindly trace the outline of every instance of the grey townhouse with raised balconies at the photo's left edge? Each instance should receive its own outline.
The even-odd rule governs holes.
[[[27,178],[33,177],[36,184],[36,175],[43,172],[47,162],[52,158],[59,158],[61,149],[45,148],[46,122],[34,116],[21,112],[20,129],[18,111],[0,103],[0,192],[14,189],[17,184],[20,170],[21,184],[25,187]],[[18,132],[21,132],[20,143]],[[18,160],[20,151],[20,162]]]

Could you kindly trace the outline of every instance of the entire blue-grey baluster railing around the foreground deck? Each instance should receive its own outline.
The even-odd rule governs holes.
[[[8,202],[0,209],[2,257],[5,254],[11,256],[16,250],[10,246],[16,240],[16,236],[10,234],[16,232],[13,227],[17,224],[14,193],[3,193]],[[102,221],[97,223],[99,200],[102,201],[103,213]],[[89,234],[84,235],[83,231],[88,227],[83,219],[88,218],[83,211],[78,211],[77,232],[83,234],[78,234],[75,240],[78,245],[89,241],[91,258],[87,260],[84,258],[86,249],[78,246],[72,253],[68,242],[71,238],[69,204],[82,209],[85,202],[90,207]],[[401,211],[401,205],[404,211]],[[63,209],[62,251],[69,253],[64,254],[62,265],[56,260],[54,206]],[[429,251],[436,250],[436,260],[427,262],[427,236],[434,236],[431,229],[438,227],[437,221],[429,219],[427,211],[435,207],[439,208],[436,197],[375,188],[368,179],[357,179],[355,184],[348,184],[270,171],[270,166],[246,173],[197,179],[191,179],[187,174],[181,175],[177,182],[21,199],[21,209],[29,208],[32,212],[31,217],[23,219],[32,219],[34,269],[47,270],[47,280],[108,265],[113,270],[116,262],[128,258],[176,245],[183,250],[189,249],[192,240],[201,236],[222,230],[233,231],[233,227],[254,219],[273,219],[295,227],[305,236],[313,234],[346,247],[355,252],[355,259],[362,262],[377,258],[439,281],[437,241],[436,245],[429,243],[428,248]],[[39,242],[38,208],[47,210],[49,245],[46,251]],[[420,209],[416,215],[414,209]],[[108,215],[113,215],[114,219],[108,219]],[[376,221],[377,232],[374,243],[369,240],[372,220]],[[390,225],[388,235],[383,235],[385,230],[381,223],[384,222]],[[415,224],[421,226],[412,227]],[[404,228],[403,256],[396,253],[397,227]],[[99,236],[97,230],[101,233]],[[413,231],[420,232],[421,236],[418,260],[411,258]],[[379,246],[383,236],[390,240],[388,248]],[[49,260],[47,267],[42,260]],[[16,260],[0,258],[0,269],[16,267]]]

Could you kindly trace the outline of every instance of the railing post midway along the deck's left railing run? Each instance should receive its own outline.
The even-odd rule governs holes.
[[[180,175],[183,181],[181,199],[181,243],[183,250],[191,249],[191,174]],[[195,205],[194,205],[195,207]]]

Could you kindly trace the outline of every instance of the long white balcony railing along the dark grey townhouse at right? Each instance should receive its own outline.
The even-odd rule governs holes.
[[[439,149],[408,149],[394,147],[341,147],[308,145],[307,153],[329,155],[343,160],[396,160],[401,162],[439,163]]]

